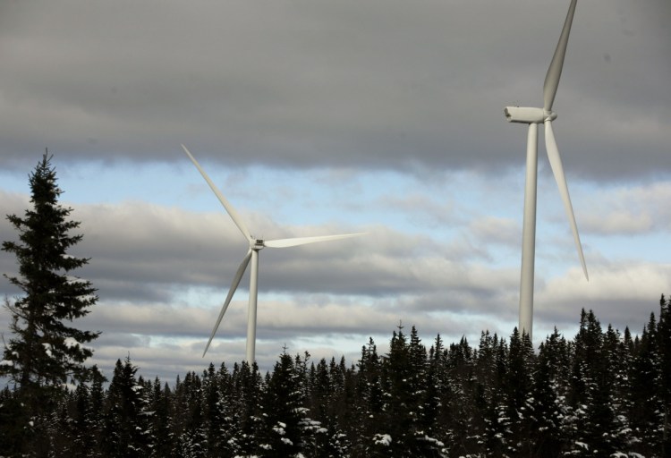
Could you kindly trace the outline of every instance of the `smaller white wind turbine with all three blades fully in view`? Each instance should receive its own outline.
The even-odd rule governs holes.
[[[235,276],[233,278],[233,283],[231,284],[231,289],[228,291],[228,295],[226,296],[226,300],[224,302],[224,306],[221,308],[221,311],[219,312],[219,317],[217,318],[217,323],[215,324],[215,327],[212,329],[212,334],[209,335],[209,340],[208,344],[205,345],[205,351],[203,352],[203,358],[205,357],[205,353],[208,352],[209,344],[212,343],[212,339],[214,338],[215,334],[217,333],[217,328],[219,327],[219,324],[221,323],[221,319],[224,318],[224,314],[226,309],[228,308],[228,304],[231,303],[231,299],[233,299],[233,295],[235,293],[235,290],[238,287],[238,284],[240,284],[240,280],[242,279],[242,276],[244,275],[245,270],[247,269],[247,266],[250,264],[251,260],[251,273],[250,273],[250,306],[248,310],[248,316],[247,316],[247,361],[249,363],[254,362],[254,353],[255,353],[255,346],[256,346],[256,312],[257,312],[257,296],[258,296],[258,278],[259,278],[259,251],[262,250],[265,247],[270,247],[270,248],[287,248],[287,247],[293,247],[293,246],[298,246],[298,245],[305,245],[308,243],[315,243],[315,242],[328,242],[332,240],[339,240],[339,239],[346,239],[350,237],[357,237],[360,235],[363,235],[363,233],[344,233],[340,235],[322,235],[318,237],[297,237],[293,239],[278,239],[278,240],[263,240],[263,239],[257,239],[253,237],[247,229],[247,226],[244,224],[242,221],[242,218],[240,217],[240,214],[238,214],[237,211],[235,211],[235,208],[231,205],[231,203],[226,200],[224,197],[224,194],[221,193],[217,189],[217,186],[215,186],[215,183],[212,182],[212,180],[209,179],[208,174],[205,173],[205,171],[202,169],[198,161],[196,161],[196,158],[191,155],[191,152],[184,146],[182,145],[182,148],[184,149],[184,152],[186,155],[191,159],[191,162],[193,165],[196,165],[196,168],[198,168],[199,172],[201,175],[203,175],[203,178],[205,178],[205,181],[208,182],[209,187],[212,189],[212,191],[215,192],[217,195],[217,198],[219,201],[224,205],[224,208],[226,212],[228,212],[228,215],[231,216],[233,219],[233,222],[235,225],[238,226],[238,229],[240,229],[240,232],[242,235],[244,235],[245,239],[247,242],[250,244],[249,250],[247,250],[247,254],[245,257],[242,259],[242,263],[240,264],[240,267],[238,267],[237,272],[235,272]]]

